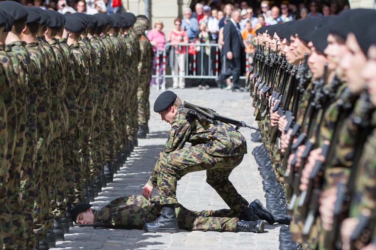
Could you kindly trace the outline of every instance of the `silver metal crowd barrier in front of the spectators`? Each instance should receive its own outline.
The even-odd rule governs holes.
[[[178,49],[181,50],[182,47],[185,47],[185,74],[184,75],[179,75],[179,72],[178,72],[178,75],[173,75],[173,65],[171,66],[171,75],[167,75],[166,74],[166,48],[168,47],[171,47],[170,48],[170,53],[174,53],[174,46],[168,42],[165,44],[164,48],[163,48],[163,60],[162,62],[160,62],[159,60],[159,50],[158,50],[158,46],[156,47],[156,55],[157,55],[157,58],[156,58],[156,74],[155,75],[152,75],[153,78],[155,78],[155,81],[156,81],[156,89],[159,89],[159,79],[162,78],[162,86],[161,86],[161,90],[165,90],[166,89],[166,79],[167,78],[189,78],[189,79],[216,79],[218,78],[218,59],[219,59],[219,46],[220,44],[193,44],[193,43],[179,43],[178,44]],[[200,50],[203,51],[203,47],[209,47],[209,55],[208,55],[208,75],[203,75],[203,68],[204,68],[204,65],[203,65],[203,56],[204,56],[204,53],[200,53],[200,56],[201,56],[201,62],[200,63],[200,69],[201,69],[201,74],[200,75],[196,75],[196,57],[197,57],[197,54],[194,54],[192,55],[193,56],[193,74],[192,75],[189,75],[188,74],[188,66],[189,66],[189,47],[190,46],[195,46],[195,49],[197,48],[196,46],[200,46]],[[212,60],[211,60],[211,48],[212,47],[215,47],[215,74],[213,75],[212,74],[212,71],[211,71],[211,66],[212,66]],[[223,65],[222,67],[224,67],[224,65],[226,65],[226,55],[224,54],[223,55]],[[250,60],[252,60],[252,57],[249,56],[248,53],[246,53],[246,75],[249,71],[249,63],[250,63]],[[159,69],[160,67],[163,67],[163,72],[162,72],[162,75],[159,75]],[[232,78],[232,76],[230,77]],[[240,76],[240,79],[246,79],[246,76],[242,75]]]

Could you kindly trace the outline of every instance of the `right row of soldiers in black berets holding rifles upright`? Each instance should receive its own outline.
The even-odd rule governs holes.
[[[280,249],[376,249],[376,11],[263,26],[256,36],[246,87],[284,190],[271,212],[292,216]]]

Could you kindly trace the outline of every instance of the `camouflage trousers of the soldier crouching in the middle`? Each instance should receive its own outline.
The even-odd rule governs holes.
[[[202,149],[202,150],[201,150]],[[191,146],[173,151],[159,159],[156,177],[161,204],[176,204],[177,180],[187,173],[206,170],[206,182],[214,188],[233,211],[244,211],[248,202],[229,181],[232,170],[243,160],[244,155],[218,157],[205,153],[205,148]]]

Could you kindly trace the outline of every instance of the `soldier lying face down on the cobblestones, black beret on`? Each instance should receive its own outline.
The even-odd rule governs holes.
[[[254,202],[259,202],[255,200]],[[254,203],[252,202],[252,203]],[[160,197],[150,200],[141,195],[129,195],[112,200],[99,210],[90,204],[80,204],[72,209],[73,221],[77,224],[128,226],[142,228],[145,223],[155,221],[162,213]],[[191,211],[179,203],[175,206],[180,229],[217,232],[264,232],[264,221],[239,220],[240,213],[231,209]]]

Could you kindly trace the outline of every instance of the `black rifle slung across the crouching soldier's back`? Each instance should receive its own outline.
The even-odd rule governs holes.
[[[255,127],[246,125],[246,123],[243,122],[243,121],[234,120],[234,119],[231,119],[231,118],[228,118],[228,117],[225,117],[225,116],[221,116],[217,113],[214,113],[213,110],[210,109],[210,108],[200,107],[200,106],[191,104],[191,103],[186,102],[186,101],[183,103],[183,107],[188,108],[191,111],[192,114],[195,114],[198,117],[199,117],[199,114],[201,114],[201,115],[203,115],[203,116],[205,116],[206,118],[209,118],[209,119],[219,120],[220,122],[235,125],[236,126],[235,130],[239,130],[239,128],[244,127],[244,128],[250,128],[250,129],[253,129],[253,130],[261,131],[261,129],[259,129],[259,128],[255,128]]]

